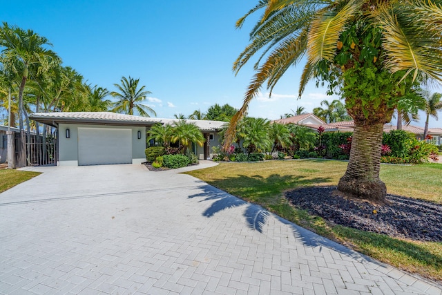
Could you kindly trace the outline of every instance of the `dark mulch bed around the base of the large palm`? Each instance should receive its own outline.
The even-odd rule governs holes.
[[[342,196],[336,187],[307,187],[287,191],[299,209],[335,224],[388,236],[442,241],[442,205],[387,195],[386,204],[372,204]]]

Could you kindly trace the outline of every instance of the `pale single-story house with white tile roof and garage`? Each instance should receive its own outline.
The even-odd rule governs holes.
[[[140,164],[146,161],[146,130],[153,124],[177,121],[110,112],[33,113],[30,119],[57,128],[59,166]],[[211,158],[225,122],[186,122],[198,126],[206,138],[204,146],[194,146],[195,155],[200,160]]]

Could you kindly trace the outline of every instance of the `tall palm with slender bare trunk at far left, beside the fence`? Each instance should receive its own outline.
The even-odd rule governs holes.
[[[23,30],[17,26],[9,26],[3,22],[0,27],[0,47],[3,66],[10,68],[19,75],[19,128],[21,131],[21,146],[18,166],[26,165],[26,142],[23,129],[23,91],[29,75],[44,71],[50,64],[59,64],[60,59],[56,53],[46,48],[52,46],[48,39],[41,37],[32,30]]]

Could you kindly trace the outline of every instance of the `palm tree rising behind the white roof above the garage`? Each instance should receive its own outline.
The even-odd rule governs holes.
[[[122,77],[121,85],[113,84],[119,92],[112,91],[111,95],[117,97],[118,101],[114,103],[114,108],[112,109],[115,113],[124,113],[128,115],[134,115],[138,113],[143,117],[150,117],[148,113],[157,115],[152,108],[142,104],[146,95],[151,94],[151,91],[144,91],[146,86],[141,86],[138,88],[138,83],[140,79],[133,79],[131,76],[127,79]]]

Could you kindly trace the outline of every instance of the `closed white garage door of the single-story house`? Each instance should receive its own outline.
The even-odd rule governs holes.
[[[78,164],[131,164],[131,129],[78,129]]]

